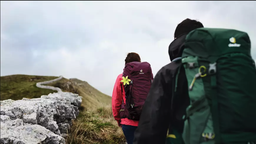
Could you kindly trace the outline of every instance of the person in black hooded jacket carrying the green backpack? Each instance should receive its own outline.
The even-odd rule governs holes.
[[[134,144],[164,144],[167,131],[178,133],[181,137],[188,97],[188,82],[184,68],[180,69],[177,88],[173,84],[177,68],[181,65],[175,59],[181,57],[186,35],[196,28],[203,27],[197,20],[186,19],[178,24],[174,32],[174,41],[169,45],[169,56],[172,61],[162,67],[156,74],[149,94],[144,103],[139,126],[134,133]],[[174,95],[175,98],[174,99]]]

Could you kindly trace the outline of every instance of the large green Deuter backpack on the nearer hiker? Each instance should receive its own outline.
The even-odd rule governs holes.
[[[256,144],[256,67],[248,34],[193,30],[186,36],[181,63],[190,105],[183,117],[183,140],[171,143]]]

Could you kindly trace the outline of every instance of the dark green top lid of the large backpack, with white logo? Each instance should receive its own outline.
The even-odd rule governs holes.
[[[186,36],[182,58],[190,55],[202,58],[228,53],[251,55],[251,42],[246,32],[232,29],[198,28]]]

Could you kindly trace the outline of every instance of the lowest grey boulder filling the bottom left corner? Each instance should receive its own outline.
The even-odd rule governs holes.
[[[2,117],[2,115],[1,115]],[[8,116],[7,116],[8,117]],[[6,117],[5,117],[6,118]],[[7,120],[8,119],[8,120]],[[1,123],[1,144],[64,144],[65,139],[37,124],[11,125],[15,120],[7,118],[8,124]],[[6,122],[7,122],[6,121]],[[22,120],[19,119],[21,122]]]

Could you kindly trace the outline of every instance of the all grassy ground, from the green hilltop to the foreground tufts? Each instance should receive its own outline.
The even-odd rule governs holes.
[[[40,98],[42,95],[57,92],[36,87],[37,82],[49,81],[58,77],[10,75],[1,77],[1,100]],[[82,96],[82,107],[73,126],[68,130],[68,144],[122,144],[125,137],[117,126],[111,110],[111,97],[101,93],[86,81],[61,79],[49,86]],[[83,108],[83,109],[81,109]]]

